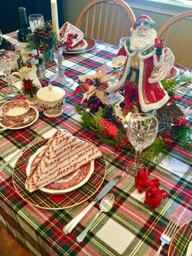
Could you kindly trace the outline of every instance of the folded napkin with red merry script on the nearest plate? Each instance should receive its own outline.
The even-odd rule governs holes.
[[[29,192],[43,188],[102,155],[94,144],[74,137],[67,130],[58,130],[33,161],[25,188]]]

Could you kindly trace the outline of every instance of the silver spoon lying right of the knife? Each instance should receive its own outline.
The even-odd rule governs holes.
[[[115,196],[114,194],[107,194],[106,196],[103,197],[103,200],[100,202],[99,204],[99,208],[100,211],[98,212],[98,214],[96,214],[94,216],[94,218],[92,219],[92,221],[88,224],[87,227],[85,227],[84,231],[81,232],[81,234],[79,236],[76,237],[76,241],[77,242],[81,242],[84,240],[87,232],[89,232],[89,230],[91,229],[91,227],[94,226],[94,223],[96,222],[96,220],[98,219],[99,215],[102,214],[103,212],[107,213],[109,210],[111,210],[112,206],[114,205],[115,202]]]

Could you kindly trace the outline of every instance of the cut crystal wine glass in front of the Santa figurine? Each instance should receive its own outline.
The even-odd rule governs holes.
[[[129,117],[127,136],[135,148],[135,162],[133,172],[139,168],[139,156],[144,148],[147,148],[156,139],[158,133],[158,121],[149,113],[135,113]],[[130,170],[131,166],[124,166],[124,170]]]

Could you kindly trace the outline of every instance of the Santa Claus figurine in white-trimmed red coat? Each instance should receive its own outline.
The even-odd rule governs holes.
[[[131,37],[124,42],[118,55],[127,58],[120,81],[112,87],[115,92],[124,86],[122,110],[128,113],[134,104],[142,112],[163,107],[169,96],[159,81],[171,71],[175,57],[157,38],[155,21],[147,15],[140,15]]]

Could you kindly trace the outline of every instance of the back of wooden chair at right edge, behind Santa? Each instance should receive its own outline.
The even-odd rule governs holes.
[[[192,11],[185,11],[167,20],[159,29],[158,38],[164,38],[176,57],[176,63],[192,69]]]

